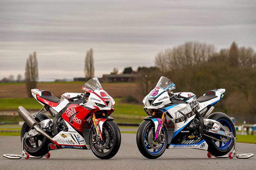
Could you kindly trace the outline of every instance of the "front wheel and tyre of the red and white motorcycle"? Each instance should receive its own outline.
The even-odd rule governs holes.
[[[92,153],[100,159],[110,159],[116,155],[121,145],[121,133],[114,121],[107,121],[102,127],[103,140],[96,139],[94,129],[90,132]]]

